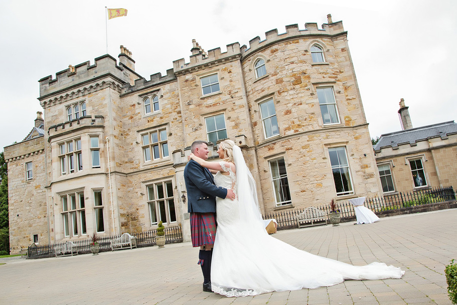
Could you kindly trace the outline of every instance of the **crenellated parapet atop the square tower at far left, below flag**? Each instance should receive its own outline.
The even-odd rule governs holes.
[[[47,76],[38,82],[40,83],[40,97],[38,98],[43,106],[47,98],[53,98],[59,93],[68,92],[69,90],[77,87],[91,85],[89,83],[102,82],[102,79],[111,77],[113,81],[117,82],[119,86],[123,84],[132,84],[135,79],[141,78],[135,71],[126,65],[119,63],[114,57],[110,55],[103,55],[95,58],[95,63],[91,65],[90,61],[76,65],[75,67],[69,66],[68,69],[57,72],[56,78]],[[106,80],[105,80],[106,82]],[[93,87],[93,86],[92,86]],[[49,100],[48,100],[49,101]]]

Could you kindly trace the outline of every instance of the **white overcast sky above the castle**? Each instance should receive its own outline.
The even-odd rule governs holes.
[[[327,14],[343,21],[371,137],[401,130],[400,99],[413,127],[456,119],[456,0],[0,0],[0,151],[22,141],[42,108],[38,80],[108,53],[133,53],[146,80],[189,61],[191,40],[208,51]]]

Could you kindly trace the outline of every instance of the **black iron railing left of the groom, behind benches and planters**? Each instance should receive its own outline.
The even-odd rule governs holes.
[[[156,236],[157,230],[148,230],[142,232],[135,232],[131,233],[131,235],[135,236],[136,245],[137,247],[148,247],[156,245]],[[111,236],[103,236],[99,237],[98,239],[98,247],[99,251],[109,251],[111,250],[111,243],[110,241],[114,238],[120,237],[120,234],[111,235]],[[72,240],[73,243],[77,246],[78,254],[83,253],[91,253],[91,239],[88,237],[82,240]],[[56,255],[56,247],[62,246],[67,241],[58,242],[51,245],[35,245],[32,244],[28,247],[28,257],[29,258],[45,258],[45,257],[52,257]],[[165,243],[178,243],[183,242],[183,232],[181,230],[181,226],[177,227],[169,227],[165,228]]]

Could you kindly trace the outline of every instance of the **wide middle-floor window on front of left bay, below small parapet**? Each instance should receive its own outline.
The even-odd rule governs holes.
[[[67,175],[83,170],[81,138],[59,144],[60,174]]]

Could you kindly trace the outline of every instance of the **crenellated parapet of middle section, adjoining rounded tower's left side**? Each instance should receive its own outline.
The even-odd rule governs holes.
[[[230,62],[241,57],[240,43],[235,42],[227,45],[227,52],[222,53],[220,48],[209,50],[205,53],[198,52],[190,56],[190,62],[185,63],[185,60],[178,59],[173,62],[173,70],[176,76],[183,75],[189,72],[206,69],[221,63]]]

